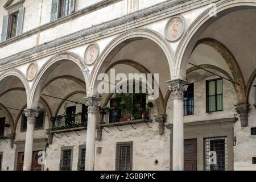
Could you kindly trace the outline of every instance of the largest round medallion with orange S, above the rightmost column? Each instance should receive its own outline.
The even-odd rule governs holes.
[[[174,16],[169,20],[165,29],[166,39],[170,42],[176,42],[181,38],[185,31],[185,19],[182,16]]]

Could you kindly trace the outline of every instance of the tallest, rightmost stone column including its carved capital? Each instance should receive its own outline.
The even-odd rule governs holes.
[[[174,101],[173,115],[173,142],[172,142],[172,169],[183,171],[184,169],[184,134],[183,134],[183,92],[187,90],[188,81],[167,81]]]

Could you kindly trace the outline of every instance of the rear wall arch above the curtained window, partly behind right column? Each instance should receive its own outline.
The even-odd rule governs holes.
[[[232,80],[232,81],[233,81],[232,76],[230,76],[229,73],[226,72],[224,69],[221,69],[221,68],[219,68],[219,67],[216,67],[216,66],[210,65],[210,64],[201,64],[201,65],[198,65],[198,66],[199,66],[200,68],[215,69],[215,70],[217,70],[217,71],[223,73],[226,77],[228,77],[229,80]],[[187,73],[186,73],[186,74],[188,75],[189,73],[191,73],[191,72],[193,72],[193,71],[196,71],[196,70],[198,70],[198,69],[200,69],[200,68],[198,68],[198,67],[191,67],[191,68],[187,69]],[[232,83],[232,84],[233,84],[233,86],[234,86],[234,89],[236,90],[236,89],[237,89],[236,84],[234,84],[234,83]],[[171,91],[168,90],[167,93],[166,93],[166,96],[164,97],[164,114],[166,113],[167,104],[168,104],[168,100],[169,100],[169,98],[170,98],[170,95],[171,95]]]

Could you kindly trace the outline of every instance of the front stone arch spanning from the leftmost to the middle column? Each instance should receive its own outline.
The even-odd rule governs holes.
[[[51,57],[51,59],[49,59],[43,65],[43,67],[40,69],[40,71],[35,77],[35,81],[31,89],[31,97],[28,102],[28,107],[37,107],[40,94],[46,82],[48,73],[51,73],[58,65],[60,65],[61,63],[67,60],[75,63],[81,69],[81,72],[82,72],[82,69],[87,68],[84,61],[81,59],[81,57],[77,56],[75,53],[72,53],[72,52],[61,52]],[[85,85],[89,85],[88,73],[82,72],[82,74],[84,75]]]

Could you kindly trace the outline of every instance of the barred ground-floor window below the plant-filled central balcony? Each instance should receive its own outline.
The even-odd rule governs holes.
[[[117,143],[115,151],[115,170],[131,171],[133,162],[133,142]]]

